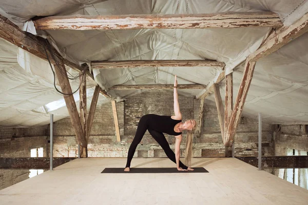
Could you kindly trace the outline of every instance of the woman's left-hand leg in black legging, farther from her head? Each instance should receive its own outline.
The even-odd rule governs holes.
[[[131,162],[131,159],[133,157],[133,154],[134,152],[136,151],[136,148],[138,146],[138,144],[140,143],[144,133],[146,132],[147,130],[147,122],[146,122],[146,115],[142,116],[139,123],[138,123],[138,127],[137,127],[137,131],[136,131],[136,134],[129,146],[129,149],[128,149],[128,153],[127,153],[127,162],[126,162],[126,166],[125,166],[125,170],[124,171],[129,171],[129,168],[130,167],[130,162]]]

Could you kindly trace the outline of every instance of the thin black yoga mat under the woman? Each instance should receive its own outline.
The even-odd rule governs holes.
[[[124,168],[105,168],[101,173],[207,173],[203,167],[193,168],[194,171],[178,171],[177,168],[130,168],[124,172]]]

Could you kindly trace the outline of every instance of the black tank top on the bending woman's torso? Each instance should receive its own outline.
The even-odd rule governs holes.
[[[171,116],[148,114],[144,116],[148,128],[169,135],[180,135],[182,132],[175,132],[175,126],[182,120],[172,119]]]

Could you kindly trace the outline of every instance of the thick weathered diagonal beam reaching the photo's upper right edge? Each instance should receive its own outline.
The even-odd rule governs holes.
[[[281,27],[278,31],[269,35],[261,47],[247,57],[247,60],[257,61],[260,58],[277,51],[279,48],[283,47],[287,43],[291,42],[291,40],[294,40],[307,31],[308,13],[303,15],[303,17],[297,20],[297,22],[293,25]]]

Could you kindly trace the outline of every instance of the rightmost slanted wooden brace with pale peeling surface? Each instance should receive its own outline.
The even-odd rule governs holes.
[[[242,115],[242,111],[244,108],[246,96],[248,93],[249,86],[251,85],[254,70],[255,70],[256,62],[246,61],[245,70],[243,73],[243,79],[240,84],[239,92],[234,104],[234,110],[232,111],[232,115],[230,117],[226,138],[225,138],[225,146],[232,147],[234,142],[234,136],[239,125],[239,120]]]

